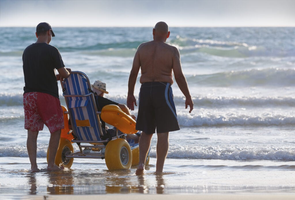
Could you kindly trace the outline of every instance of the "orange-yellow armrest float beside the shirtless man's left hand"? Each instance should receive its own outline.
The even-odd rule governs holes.
[[[126,134],[137,133],[136,122],[117,105],[106,105],[101,109],[101,119]]]

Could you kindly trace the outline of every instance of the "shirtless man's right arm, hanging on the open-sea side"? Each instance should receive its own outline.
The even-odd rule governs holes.
[[[190,107],[189,113],[191,113],[191,111],[194,109],[194,102],[191,99],[191,94],[189,93],[189,86],[187,85],[186,78],[182,73],[179,51],[176,47],[173,47],[173,49],[174,49],[174,54],[172,57],[172,61],[173,61],[172,69],[174,73],[174,78],[179,89],[181,90],[183,95],[186,97],[185,108],[189,106]]]

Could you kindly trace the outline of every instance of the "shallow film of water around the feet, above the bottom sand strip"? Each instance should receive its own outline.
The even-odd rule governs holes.
[[[10,163],[15,159],[17,162]],[[1,159],[0,194],[5,196],[55,194],[238,194],[294,193],[295,162],[167,159],[164,172],[155,174],[156,159],[147,173],[136,176],[136,167],[109,171],[104,160],[76,159],[71,169],[30,173],[28,158]],[[177,171],[176,171],[177,169]]]

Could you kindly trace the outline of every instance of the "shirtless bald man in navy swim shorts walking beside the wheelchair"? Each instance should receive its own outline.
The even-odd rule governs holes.
[[[157,128],[157,164],[156,173],[163,172],[164,161],[168,153],[170,131],[179,130],[176,109],[173,102],[171,85],[172,71],[175,81],[186,97],[185,108],[194,103],[181,69],[180,55],[176,47],[166,44],[170,32],[165,22],[158,22],[153,29],[153,41],[139,45],[134,56],[128,82],[127,106],[134,110],[136,99],[134,88],[138,72],[140,76],[139,108],[136,129],[141,130],[139,140],[139,164],[136,174],[145,173],[145,159],[150,148],[151,139]]]

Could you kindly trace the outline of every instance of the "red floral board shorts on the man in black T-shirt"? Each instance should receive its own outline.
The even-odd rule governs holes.
[[[31,131],[41,131],[44,124],[50,133],[65,127],[59,99],[42,92],[25,93],[24,128],[31,129]]]

